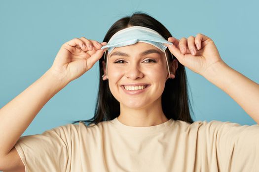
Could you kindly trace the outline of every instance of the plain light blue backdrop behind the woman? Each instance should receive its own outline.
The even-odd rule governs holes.
[[[202,33],[222,59],[259,83],[259,2],[150,0],[1,0],[0,107],[33,84],[52,65],[62,44],[84,36],[102,42],[118,19],[136,11],[160,21],[174,37]],[[225,92],[186,68],[197,120],[256,122]],[[94,115],[98,64],[58,92],[40,110],[24,135],[42,133]],[[11,122],[11,121],[10,121]]]

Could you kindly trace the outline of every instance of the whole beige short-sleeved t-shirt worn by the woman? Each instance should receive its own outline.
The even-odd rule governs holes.
[[[259,172],[259,125],[216,120],[79,122],[23,136],[15,148],[26,172]]]

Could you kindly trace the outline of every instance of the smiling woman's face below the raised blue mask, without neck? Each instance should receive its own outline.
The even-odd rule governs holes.
[[[120,106],[141,109],[159,102],[168,78],[165,54],[148,43],[116,47],[109,54],[109,87]],[[132,88],[140,90],[126,90]]]

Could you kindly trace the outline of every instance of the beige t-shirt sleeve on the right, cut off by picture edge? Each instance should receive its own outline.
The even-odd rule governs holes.
[[[221,171],[259,172],[259,125],[212,123],[217,125],[213,135]]]

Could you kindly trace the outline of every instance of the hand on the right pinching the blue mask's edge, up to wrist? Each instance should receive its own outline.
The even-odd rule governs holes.
[[[213,65],[224,63],[213,40],[203,34],[198,33],[196,37],[189,36],[188,39],[183,37],[180,41],[174,37],[169,37],[168,41],[174,45],[164,45],[178,61],[202,76]]]

